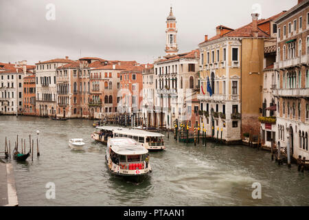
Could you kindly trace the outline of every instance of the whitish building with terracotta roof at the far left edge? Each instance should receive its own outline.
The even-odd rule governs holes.
[[[23,78],[33,72],[34,66],[27,61],[0,63],[0,113],[23,113]]]

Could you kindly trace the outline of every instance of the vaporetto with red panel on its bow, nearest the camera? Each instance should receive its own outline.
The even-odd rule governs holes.
[[[128,137],[109,137],[105,159],[113,175],[141,180],[151,172],[148,150]]]

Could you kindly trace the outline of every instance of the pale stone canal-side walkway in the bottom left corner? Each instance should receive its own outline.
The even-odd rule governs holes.
[[[0,159],[0,206],[18,205],[13,165]]]

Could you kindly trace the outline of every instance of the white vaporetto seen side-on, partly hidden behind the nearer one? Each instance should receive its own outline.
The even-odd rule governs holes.
[[[97,126],[91,137],[106,144],[108,137],[129,137],[141,143],[148,151],[162,151],[165,149],[164,135],[157,132],[139,129],[127,129],[119,126]]]

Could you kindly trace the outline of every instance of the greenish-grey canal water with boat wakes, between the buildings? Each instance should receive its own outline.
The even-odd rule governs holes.
[[[5,136],[36,137],[40,157],[15,162],[20,206],[308,206],[309,173],[278,166],[266,151],[248,146],[207,146],[176,143],[165,137],[166,150],[150,153],[152,174],[135,184],[108,173],[106,146],[91,139],[90,120],[0,116],[0,148]],[[82,137],[85,151],[72,151],[68,140]],[[36,139],[35,139],[36,140]],[[36,152],[36,151],[35,151]],[[56,199],[46,199],[48,182]],[[251,196],[252,184],[262,186],[262,199]]]

